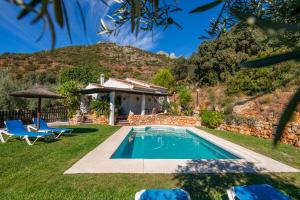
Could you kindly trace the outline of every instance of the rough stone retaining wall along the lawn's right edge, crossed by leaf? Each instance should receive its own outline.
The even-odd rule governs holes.
[[[245,123],[224,123],[219,127],[219,129],[271,139],[276,126],[269,122],[256,121],[253,125],[248,125]],[[281,142],[300,147],[300,124],[293,122],[288,124]]]

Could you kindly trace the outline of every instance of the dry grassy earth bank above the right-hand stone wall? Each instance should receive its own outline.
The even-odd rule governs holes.
[[[199,88],[199,106],[201,110],[215,109],[227,115],[276,123],[295,89],[295,87],[280,88],[262,95],[229,96],[224,85],[201,87]],[[193,92],[194,104],[196,104],[196,95],[196,92]],[[293,121],[300,123],[299,110],[295,113]]]

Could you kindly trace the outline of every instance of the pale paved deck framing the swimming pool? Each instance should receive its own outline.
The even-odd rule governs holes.
[[[140,127],[145,126],[139,126],[139,128]],[[132,126],[123,126],[120,128],[116,133],[65,171],[64,174],[299,172],[298,169],[280,163],[272,158],[256,153],[205,131],[199,130],[195,127],[177,128],[186,128],[204,139],[237,155],[241,159],[110,159],[111,155],[115,152],[132,128]]]

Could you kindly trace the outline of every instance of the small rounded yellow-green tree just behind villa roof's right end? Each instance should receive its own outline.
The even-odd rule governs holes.
[[[171,88],[174,84],[174,76],[171,73],[171,70],[168,68],[160,69],[153,78],[153,83],[166,87]]]

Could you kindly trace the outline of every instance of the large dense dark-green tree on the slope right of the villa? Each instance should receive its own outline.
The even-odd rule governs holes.
[[[217,40],[204,42],[190,59],[196,67],[196,80],[200,85],[224,82],[240,70],[241,62],[264,48],[262,40],[259,31],[240,25]]]

